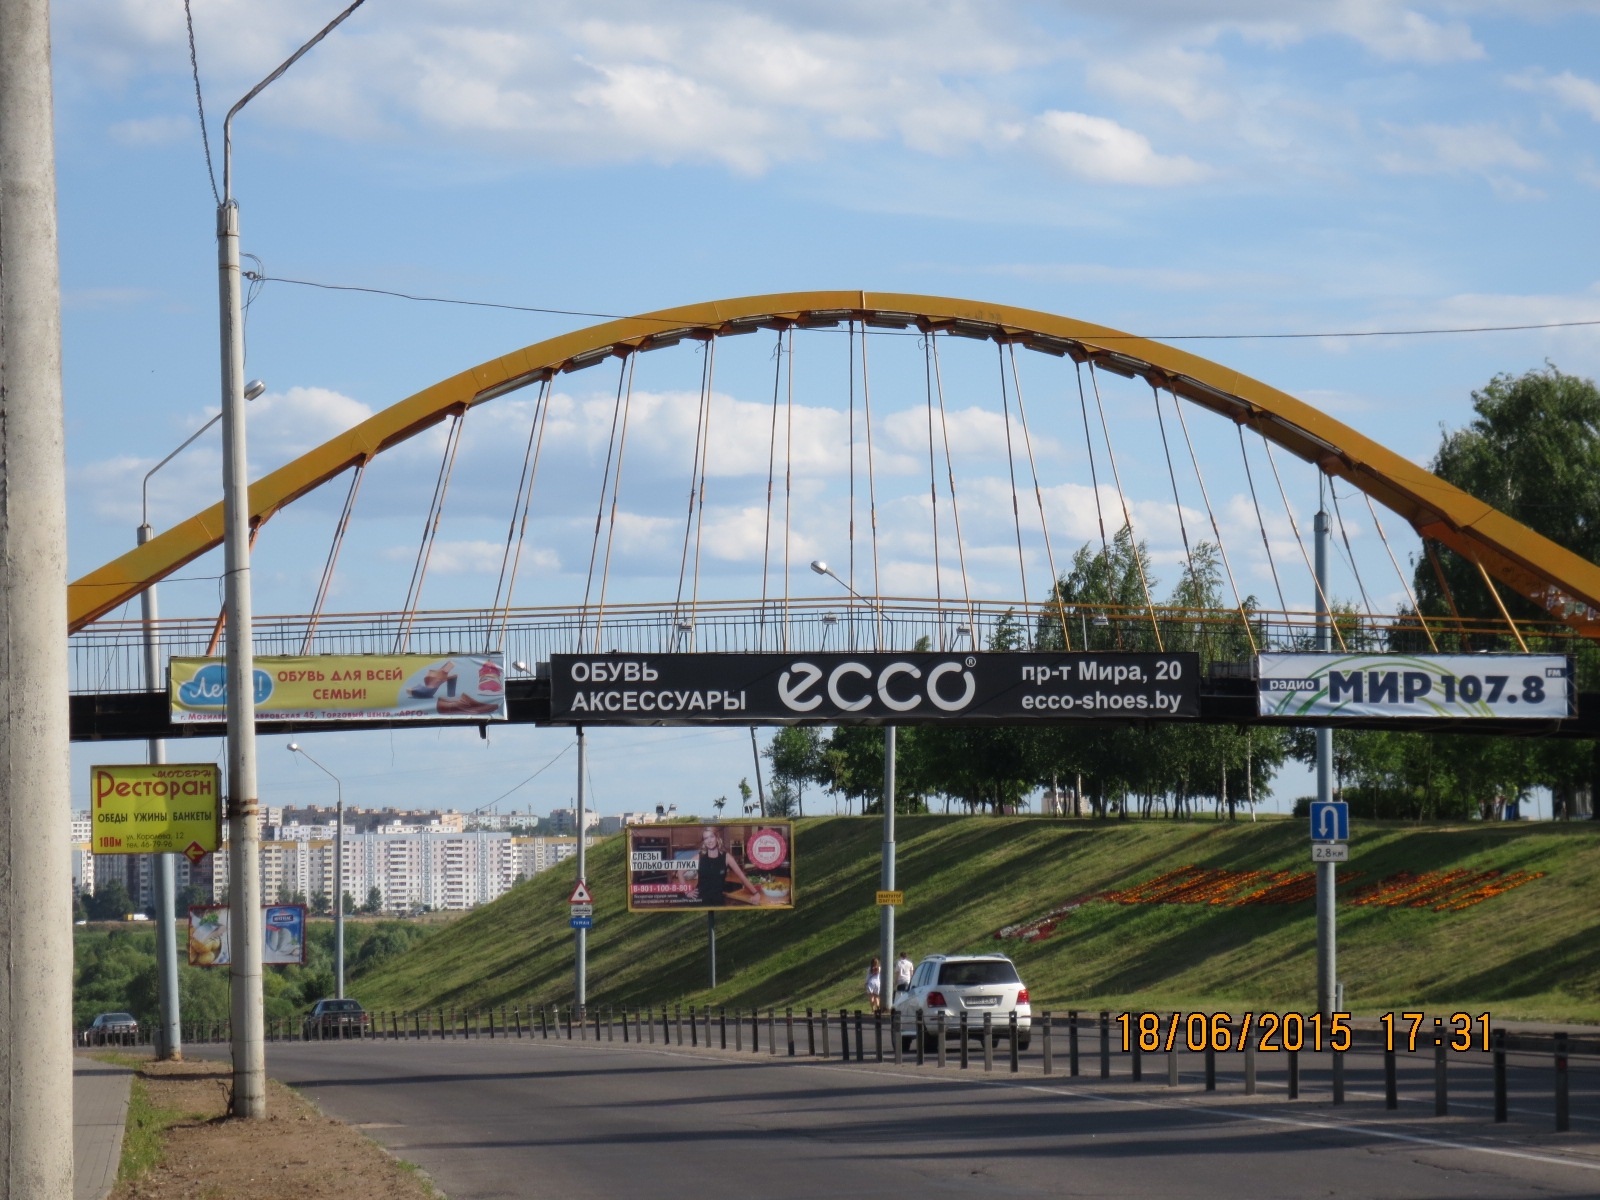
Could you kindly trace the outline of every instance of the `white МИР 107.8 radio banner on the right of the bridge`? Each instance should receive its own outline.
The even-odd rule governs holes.
[[[1565,720],[1562,654],[1261,654],[1262,717]]]

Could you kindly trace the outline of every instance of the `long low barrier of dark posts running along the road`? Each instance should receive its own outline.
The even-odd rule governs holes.
[[[672,1045],[770,1058],[811,1058],[840,1062],[894,1062],[936,1069],[995,1070],[1027,1069],[1042,1075],[1090,1077],[1104,1082],[1146,1082],[1146,1059],[1157,1059],[1166,1086],[1203,1083],[1205,1091],[1237,1090],[1256,1094],[1262,1086],[1283,1090],[1290,1101],[1323,1098],[1344,1104],[1352,1075],[1357,1086],[1382,1088],[1384,1107],[1398,1109],[1406,1101],[1432,1102],[1435,1117],[1451,1112],[1453,1088],[1458,1107],[1493,1109],[1494,1122],[1507,1122],[1518,1104],[1547,1107],[1518,1112],[1549,1114],[1554,1128],[1565,1133],[1573,1122],[1574,1064],[1587,1075],[1579,1098],[1600,1109],[1600,1037],[1573,1037],[1565,1032],[1523,1034],[1506,1029],[1490,1032],[1490,1048],[1456,1051],[1450,1032],[1429,1030],[1414,1043],[1390,1046],[1381,1030],[1350,1030],[1349,1050],[1261,1051],[1259,1042],[1245,1046],[1229,1042],[1224,1048],[1190,1048],[1187,1038],[1171,1050],[1149,1051],[1131,1037],[1120,1045],[1110,1011],[1064,1014],[1040,1013],[1024,1027],[1014,1014],[1003,1022],[986,1013],[981,1022],[950,1021],[946,1016],[902,1021],[896,1013],[862,1010],[805,1008],[726,1008],[682,1005],[592,1006],[582,1013],[557,1005],[501,1005],[499,1008],[381,1010],[368,1014],[366,1026],[338,1029],[310,1027],[298,1018],[270,1021],[267,1037],[286,1040],[370,1040],[370,1042],[451,1042],[482,1038],[538,1038],[562,1042],[606,1042],[614,1045]],[[1163,1029],[1170,1014],[1162,1016]],[[190,1027],[189,1042],[226,1042],[226,1021]],[[1475,1038],[1480,1042],[1482,1038]],[[1454,1067],[1451,1066],[1454,1059]],[[1360,1064],[1358,1069],[1352,1064]],[[1264,1069],[1266,1067],[1266,1069]],[[1486,1086],[1472,1086],[1486,1078]],[[1515,1075],[1515,1078],[1514,1078]],[[1154,1082],[1154,1080],[1152,1080]],[[1405,1083],[1405,1086],[1403,1086]],[[1515,1083],[1515,1086],[1514,1086]],[[1408,1093],[1408,1094],[1403,1094]],[[1486,1096],[1485,1096],[1486,1093]],[[1477,1104],[1480,1098],[1490,1104]],[[1541,1099],[1542,1098],[1542,1099]],[[1595,1115],[1578,1120],[1600,1123]]]

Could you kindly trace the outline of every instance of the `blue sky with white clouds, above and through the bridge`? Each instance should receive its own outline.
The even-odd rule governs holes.
[[[219,166],[222,114],[336,6],[192,8]],[[216,413],[214,198],[182,3],[78,0],[56,5],[54,21],[77,576],[131,546],[142,475]],[[278,280],[595,314],[867,288],[1154,336],[1328,334],[1178,344],[1427,462],[1493,376],[1546,362],[1594,376],[1597,326],[1336,334],[1600,320],[1597,50],[1600,3],[1544,0],[371,0],[237,118],[234,186],[243,250]],[[269,282],[248,314],[246,370],[267,382],[251,406],[253,470],[589,323]],[[1275,606],[1283,587],[1290,606],[1304,603],[1288,512],[1304,525],[1315,507],[1309,469],[1283,462],[1288,506],[1258,496],[1258,520],[1226,422],[1189,410],[1195,456],[1168,443],[1170,475],[1142,384],[1106,379],[1109,422],[1086,442],[1072,426],[1074,379],[1040,355],[1021,355],[1013,382],[1040,475],[1032,518],[1045,514],[1050,538],[1043,523],[1018,525],[1018,579],[1006,475],[1018,454],[1005,453],[995,350],[979,344],[949,346],[942,362],[971,560],[963,578],[946,530],[936,579],[923,350],[914,338],[872,341],[885,594],[965,586],[1005,600],[1027,584],[1037,597],[1051,554],[1059,566],[1096,541],[1101,512],[1120,504],[1115,486],[1086,477],[1098,446],[1101,475],[1107,448],[1122,456],[1158,587],[1214,515],[1240,592]],[[704,595],[824,595],[803,563],[848,555],[848,339],[818,331],[792,349],[774,358],[770,334],[718,346]],[[629,467],[605,573],[616,600],[669,598],[677,584],[698,354],[643,357],[627,390]],[[790,467],[787,574],[763,509],[779,445],[774,362],[794,376],[795,421],[776,451]],[[595,480],[624,382],[613,363],[555,386],[526,603],[573,603],[595,582]],[[424,608],[486,603],[531,403],[507,397],[464,426]],[[155,528],[216,499],[214,437],[155,477]],[[374,464],[331,611],[400,605],[442,438],[437,429]],[[1267,459],[1246,453],[1266,490]],[[1035,499],[1032,475],[1019,486]],[[341,501],[334,483],[267,526],[258,613],[306,611]],[[1342,515],[1339,594],[1392,611],[1414,538],[1387,522],[1397,573],[1358,498]],[[216,574],[213,555],[163,584],[163,613],[214,613]],[[328,781],[282,741],[262,739],[264,802],[326,798]],[[547,811],[571,797],[571,754],[517,787],[571,742],[560,730],[302,741],[352,803]],[[592,798],[608,813],[704,810],[754,776],[742,731],[602,730],[590,750]],[[104,755],[75,747],[78,778]],[[1304,790],[1304,773],[1288,771],[1269,803]]]

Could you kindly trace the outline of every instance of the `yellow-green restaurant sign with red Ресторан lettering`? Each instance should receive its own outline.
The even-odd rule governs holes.
[[[216,763],[90,768],[90,848],[96,854],[190,854],[221,842],[222,770]]]

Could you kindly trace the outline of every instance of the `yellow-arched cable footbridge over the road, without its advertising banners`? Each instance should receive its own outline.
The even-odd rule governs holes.
[[[426,608],[459,480],[488,478],[472,454],[504,454],[512,427],[494,586]],[[328,611],[363,478],[435,429],[395,606]],[[571,651],[1187,648],[1210,664],[1213,718],[1248,720],[1253,654],[1310,648],[1330,605],[1334,648],[1600,637],[1600,566],[1326,413],[1158,341],[962,299],[754,296],[512,350],[258,478],[254,536],[334,480],[317,589],[258,618],[258,653],[502,651],[526,664],[514,720],[538,718],[536,666]],[[1326,590],[1317,507],[1336,522]],[[74,736],[179,736],[142,675],[139,622],[114,614],[221,541],[214,504],[69,586]],[[838,584],[808,568],[819,550]],[[1418,614],[1414,566],[1440,555],[1470,563],[1498,613]],[[1501,594],[1546,616],[1514,621]],[[216,653],[221,619],[157,635],[163,654]]]

